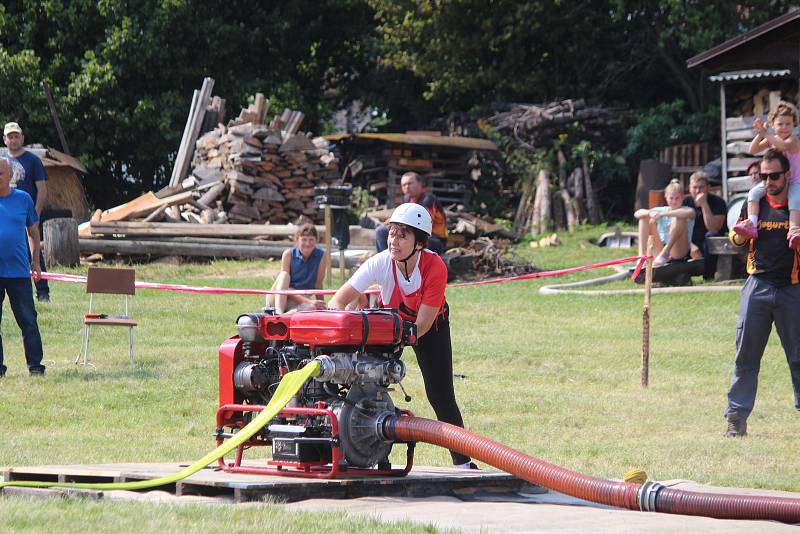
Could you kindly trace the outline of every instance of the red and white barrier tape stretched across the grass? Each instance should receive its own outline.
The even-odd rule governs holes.
[[[628,258],[620,258],[617,260],[609,260],[601,263],[593,263],[591,265],[583,265],[580,267],[571,267],[569,269],[558,269],[555,271],[542,271],[539,273],[521,274],[519,276],[509,276],[506,278],[493,278],[491,280],[478,280],[475,282],[464,282],[459,284],[448,284],[447,287],[465,287],[477,286],[484,284],[498,284],[500,282],[514,282],[518,280],[531,280],[533,278],[544,278],[547,276],[561,276],[565,274],[577,273],[580,271],[587,271],[589,269],[599,269],[601,267],[610,267],[611,265],[619,265],[621,263],[629,263],[636,261],[636,268],[631,275],[631,279],[635,279],[639,272],[644,267],[647,261],[646,256],[630,256]],[[62,274],[43,272],[42,278],[45,280],[52,280],[54,282],[69,282],[73,284],[85,284],[86,277],[77,274]],[[239,295],[333,295],[336,293],[335,289],[287,289],[287,290],[272,290],[272,289],[247,289],[247,288],[232,288],[232,287],[209,287],[209,286],[187,286],[183,284],[161,284],[156,282],[136,282],[137,289],[161,289],[165,291],[181,291],[184,293],[205,293],[210,295],[224,295],[224,294],[239,294]],[[368,293],[377,293],[377,291],[368,291]]]

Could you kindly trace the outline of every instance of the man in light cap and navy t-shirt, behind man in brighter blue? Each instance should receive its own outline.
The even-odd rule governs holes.
[[[11,163],[12,179],[11,187],[16,187],[28,193],[33,199],[36,207],[36,215],[42,217],[42,210],[47,202],[47,172],[44,170],[42,160],[35,154],[25,150],[25,136],[22,128],[16,122],[6,123],[3,128],[3,141],[8,147],[8,156]],[[39,237],[41,238],[41,224],[39,225]],[[39,253],[39,264],[45,270],[44,255]],[[36,298],[40,302],[50,301],[50,288],[47,280],[39,279],[36,282]]]

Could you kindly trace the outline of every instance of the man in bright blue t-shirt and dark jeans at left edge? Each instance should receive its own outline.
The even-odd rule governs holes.
[[[11,164],[0,158],[0,320],[3,300],[8,294],[14,319],[22,331],[28,371],[32,376],[43,375],[42,337],[36,321],[31,288],[31,270],[35,280],[42,274],[39,265],[39,216],[30,195],[12,188],[11,180]],[[5,374],[3,340],[0,337],[0,377]]]

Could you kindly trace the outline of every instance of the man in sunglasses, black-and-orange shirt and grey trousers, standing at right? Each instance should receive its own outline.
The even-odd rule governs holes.
[[[789,231],[789,161],[783,153],[769,150],[761,160],[759,178],[766,196],[760,201],[758,238],[730,233],[735,245],[748,244],[747,272],[736,325],[736,360],[728,390],[726,437],[747,435],[747,418],[753,410],[758,371],[772,324],[781,338],[794,388],[794,406],[800,411],[800,253],[786,246]],[[747,219],[747,206],[739,220]]]

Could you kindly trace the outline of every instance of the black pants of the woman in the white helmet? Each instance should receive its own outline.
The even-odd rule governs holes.
[[[417,340],[414,353],[425,382],[425,395],[436,419],[464,428],[461,410],[453,389],[453,346],[450,343],[450,311],[445,303],[444,317],[439,317],[428,332]],[[450,451],[453,465],[470,461],[469,456]]]

